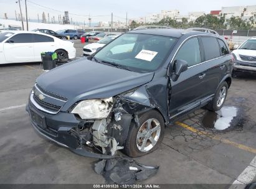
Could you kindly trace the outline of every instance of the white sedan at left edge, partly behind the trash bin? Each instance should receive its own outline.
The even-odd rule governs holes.
[[[58,61],[75,58],[70,41],[39,32],[9,31],[0,34],[0,64],[41,62],[41,52],[56,52]]]

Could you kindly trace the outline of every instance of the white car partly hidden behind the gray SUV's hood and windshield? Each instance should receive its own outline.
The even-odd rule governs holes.
[[[99,48],[102,48],[103,46],[105,46],[106,44],[111,42],[113,39],[115,39],[116,37],[117,37],[117,35],[108,36],[108,37],[105,37],[101,40],[98,40],[98,42],[96,42],[96,43],[85,45],[83,47],[83,55],[84,56],[92,55]]]

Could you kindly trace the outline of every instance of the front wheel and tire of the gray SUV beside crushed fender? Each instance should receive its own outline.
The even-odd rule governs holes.
[[[157,130],[147,130],[158,128]],[[156,110],[150,110],[139,116],[140,127],[132,123],[125,141],[125,154],[130,157],[140,157],[156,150],[163,141],[164,137],[164,119]],[[150,132],[148,132],[150,131]],[[145,134],[148,133],[148,134]],[[143,137],[140,137],[143,136]],[[137,140],[138,137],[138,140]],[[140,137],[140,138],[139,138]],[[149,139],[150,138],[150,139]],[[151,141],[156,142],[154,145]],[[145,142],[146,141],[146,142]],[[143,147],[143,144],[145,144]]]

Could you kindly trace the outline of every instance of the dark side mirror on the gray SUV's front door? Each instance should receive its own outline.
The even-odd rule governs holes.
[[[179,78],[179,75],[183,73],[183,71],[186,71],[188,67],[188,64],[185,60],[175,60],[173,67],[172,64],[169,64],[168,67],[168,76],[171,76],[171,80],[177,81]]]

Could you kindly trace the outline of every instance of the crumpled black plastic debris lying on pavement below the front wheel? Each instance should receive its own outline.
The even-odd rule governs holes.
[[[107,183],[133,184],[146,180],[158,172],[159,167],[141,165],[126,157],[103,159],[95,164],[95,172],[103,175]]]

